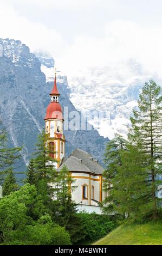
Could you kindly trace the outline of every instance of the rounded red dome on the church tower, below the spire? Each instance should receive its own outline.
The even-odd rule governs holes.
[[[50,102],[44,120],[46,119],[63,119],[62,108],[58,102]]]

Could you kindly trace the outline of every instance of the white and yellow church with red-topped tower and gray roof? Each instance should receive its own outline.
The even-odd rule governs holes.
[[[54,166],[59,172],[66,165],[75,179],[76,188],[72,192],[72,198],[78,204],[78,210],[101,214],[99,204],[105,197],[105,192],[102,190],[104,168],[93,156],[78,148],[65,157],[66,139],[63,135],[64,119],[59,96],[55,72],[54,87],[50,93],[50,103],[44,118],[46,133],[49,135],[49,147],[54,150],[54,153],[50,154],[57,160]]]

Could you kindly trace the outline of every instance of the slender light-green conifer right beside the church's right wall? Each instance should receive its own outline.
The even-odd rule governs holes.
[[[112,214],[116,210],[118,199],[114,197],[114,177],[118,173],[118,166],[121,166],[121,150],[126,150],[126,140],[120,135],[115,135],[112,141],[109,141],[105,152],[105,165],[106,169],[103,173],[103,189],[105,194],[105,200],[102,202],[103,212]]]

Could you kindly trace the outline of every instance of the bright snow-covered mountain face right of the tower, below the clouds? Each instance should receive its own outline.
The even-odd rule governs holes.
[[[42,65],[41,70],[50,81],[53,68]],[[112,139],[119,133],[126,137],[132,108],[137,106],[140,89],[149,78],[134,59],[118,67],[112,64],[81,70],[68,75],[70,101],[101,136]]]

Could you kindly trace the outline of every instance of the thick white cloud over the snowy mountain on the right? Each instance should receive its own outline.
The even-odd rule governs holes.
[[[64,51],[59,66],[74,76],[90,66],[127,64],[135,59],[145,72],[162,78],[162,26],[145,27],[135,22],[116,20],[105,25],[99,37],[77,35]],[[127,74],[129,75],[129,74]]]

